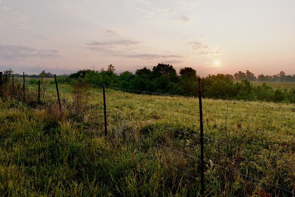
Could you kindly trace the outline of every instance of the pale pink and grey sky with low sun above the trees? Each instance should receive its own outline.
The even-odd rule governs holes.
[[[0,0],[0,71],[295,74],[294,0]],[[217,64],[219,61],[219,64]]]

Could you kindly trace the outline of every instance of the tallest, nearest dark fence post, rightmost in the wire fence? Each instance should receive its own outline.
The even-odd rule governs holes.
[[[204,196],[204,133],[203,133],[203,111],[202,111],[202,91],[201,78],[198,78],[199,83],[199,108],[200,108],[200,144],[201,144],[201,196]]]

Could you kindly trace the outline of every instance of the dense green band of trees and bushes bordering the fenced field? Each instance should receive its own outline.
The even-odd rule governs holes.
[[[199,76],[196,74],[196,70],[190,67],[180,69],[179,74],[169,64],[158,64],[152,70],[146,67],[137,69],[135,74],[129,71],[116,74],[114,71],[114,66],[109,65],[107,70],[79,70],[68,77],[59,77],[58,80],[64,82],[86,82],[99,86],[104,81],[108,87],[173,95],[198,96],[197,78]],[[239,77],[243,75],[242,72],[239,73]],[[248,70],[245,75],[248,77],[254,76]],[[279,79],[284,79],[283,76],[280,77]],[[241,80],[240,82],[234,82],[234,79],[237,79],[237,74],[235,76],[217,74],[203,77],[201,79],[203,96],[222,99],[295,103],[295,88],[273,89],[265,83],[255,87],[250,82],[252,79],[241,77],[239,78]]]

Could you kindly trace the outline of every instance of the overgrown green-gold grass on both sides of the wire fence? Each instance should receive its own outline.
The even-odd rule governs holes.
[[[0,196],[200,193],[198,99],[106,89],[106,138],[102,90],[59,88],[1,99]],[[294,195],[295,105],[250,104],[203,100],[206,196]]]

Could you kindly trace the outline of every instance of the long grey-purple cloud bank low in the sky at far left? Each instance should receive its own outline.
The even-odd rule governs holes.
[[[58,55],[59,50],[43,49],[20,45],[0,45],[0,59],[7,61],[24,60],[28,58],[62,58]]]

